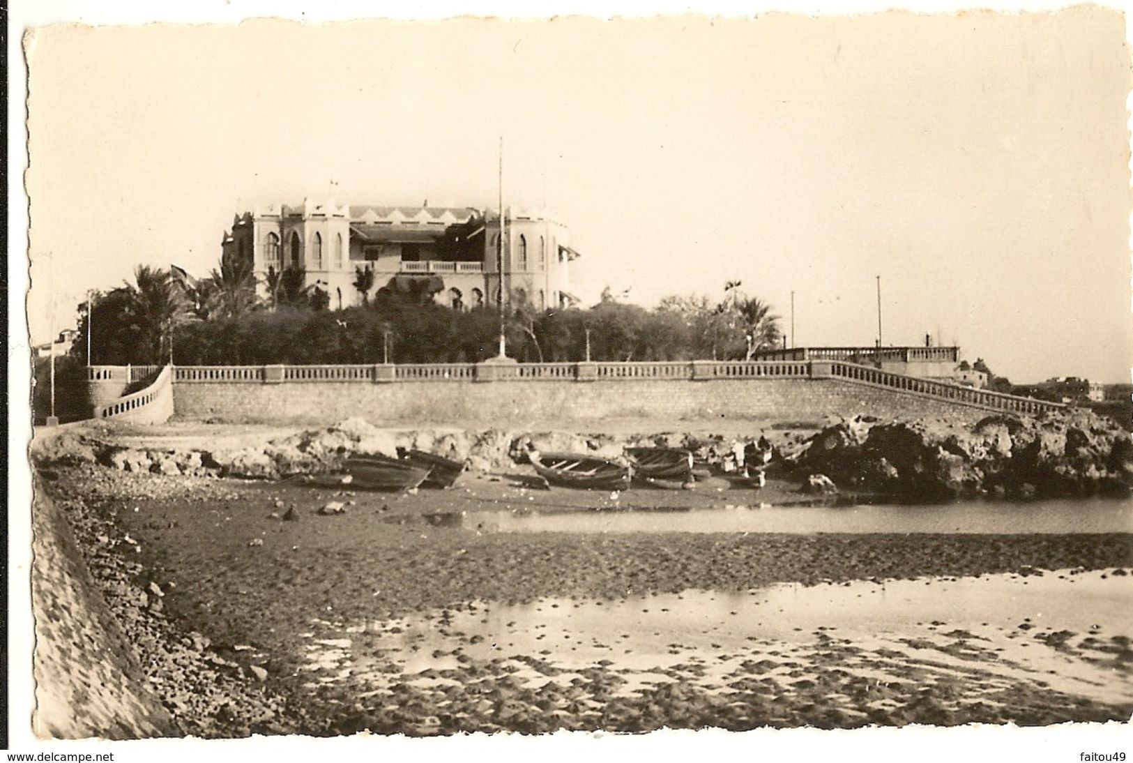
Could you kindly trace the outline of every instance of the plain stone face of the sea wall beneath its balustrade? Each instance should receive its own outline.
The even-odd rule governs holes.
[[[917,392],[838,379],[760,380],[509,380],[174,384],[176,414],[184,418],[331,422],[351,416],[375,424],[477,421],[493,425],[531,421],[580,422],[625,416],[663,418],[778,418],[825,416],[948,417],[979,421],[987,409]]]

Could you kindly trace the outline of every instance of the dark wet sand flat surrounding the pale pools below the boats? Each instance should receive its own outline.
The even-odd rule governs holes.
[[[989,669],[995,655],[977,637],[1004,634],[966,630],[968,636],[940,636],[963,629],[944,628],[943,618],[936,635],[910,627],[901,637],[912,644],[900,648],[836,636],[824,625],[800,639],[753,636],[742,648],[722,648],[718,654],[690,650],[687,659],[663,668],[667,672],[659,683],[633,685],[629,693],[624,687],[633,677],[613,658],[608,664],[596,661],[568,671],[555,662],[557,653],[570,651],[561,642],[547,654],[474,656],[475,651],[468,651],[475,646],[472,634],[466,636],[466,652],[452,655],[454,667],[424,677],[404,673],[406,663],[391,659],[386,646],[358,634],[398,627],[399,618],[467,611],[470,602],[620,602],[690,590],[743,594],[776,583],[987,574],[1015,574],[1022,585],[1037,570],[1113,575],[1133,566],[1133,534],[1127,533],[519,535],[479,532],[467,520],[448,526],[450,515],[444,512],[458,506],[472,514],[505,506],[625,509],[633,501],[702,502],[708,495],[534,491],[505,480],[475,481],[465,485],[470,493],[458,488],[389,497],[68,468],[59,470],[50,489],[105,518],[102,532],[129,536],[131,543],[126,544],[114,539],[117,548],[133,553],[146,578],[164,591],[164,614],[176,627],[204,634],[212,652],[245,670],[263,670],[266,685],[288,698],[280,706],[291,707],[288,712],[301,709],[303,721],[276,719],[284,729],[436,734],[1054,723],[1127,720],[1133,712],[1131,702],[1064,693],[1041,678],[1004,678]],[[736,492],[742,491],[721,491],[712,500],[733,501]],[[347,512],[320,516],[317,509],[332,500],[343,502]],[[596,506],[603,502],[610,506]],[[298,520],[283,520],[291,508]],[[366,624],[385,625],[375,629]],[[1126,665],[1127,646],[1106,641],[1110,634],[1121,635],[1119,629],[1113,622],[1099,625],[1094,642],[1083,646],[1083,639],[1094,635],[1074,631],[1071,646],[1114,661],[1115,670]],[[363,631],[349,631],[359,627]],[[1055,642],[1062,638],[1053,635],[1059,630],[1040,633]],[[1047,642],[1037,646],[1048,647]],[[358,648],[367,653],[359,655]],[[322,658],[315,659],[322,667],[312,671],[320,650]],[[331,659],[334,650],[346,659]],[[949,665],[959,653],[974,656]],[[375,686],[365,678],[369,668],[356,673],[351,665],[359,656],[395,680]],[[715,671],[718,685],[706,688],[697,678],[710,660],[726,662],[727,669]],[[533,687],[529,671],[565,680]],[[331,680],[322,680],[327,677]]]

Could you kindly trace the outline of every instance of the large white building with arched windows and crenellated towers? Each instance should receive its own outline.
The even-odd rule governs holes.
[[[262,290],[269,269],[301,268],[332,308],[364,302],[355,282],[365,268],[374,271],[368,299],[390,287],[424,289],[457,310],[494,306],[501,257],[510,304],[543,310],[576,302],[568,271],[578,253],[565,224],[545,210],[506,207],[504,231],[501,243],[495,210],[304,200],[237,214],[222,246],[225,255],[252,257]]]

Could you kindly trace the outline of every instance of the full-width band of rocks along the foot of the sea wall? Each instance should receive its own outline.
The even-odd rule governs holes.
[[[993,415],[976,424],[855,417],[828,425],[809,439],[776,431],[744,438],[680,432],[391,431],[349,418],[262,444],[214,451],[133,449],[101,440],[96,432],[68,433],[42,447],[36,458],[41,465],[94,461],[140,474],[281,480],[340,470],[353,453],[397,456],[423,450],[465,461],[471,472],[488,473],[516,470],[527,463],[533,448],[617,458],[625,448],[639,446],[687,448],[699,465],[725,473],[735,470],[741,456],[749,467],[764,464],[767,457],[767,476],[796,480],[808,490],[817,490],[808,477],[823,474],[842,492],[903,500],[1089,495],[1124,492],[1133,484],[1130,434],[1110,419],[1081,410],[1037,418]]]

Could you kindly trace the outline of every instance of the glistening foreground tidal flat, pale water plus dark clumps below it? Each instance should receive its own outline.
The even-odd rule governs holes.
[[[995,596],[1026,583],[1012,577],[951,582]],[[1107,707],[1118,717],[1127,713],[1133,624],[1128,617],[1118,620],[1116,634],[1077,624],[1113,619],[1099,617],[1111,596],[1094,596],[1093,611],[1081,604],[1098,593],[1099,583],[1127,599],[1128,583],[1104,583],[1098,573],[1058,580],[1007,610],[988,602],[970,613],[952,608],[944,620],[908,622],[901,620],[910,590],[911,599],[939,605],[955,593],[949,584],[937,591],[906,580],[849,590],[773,586],[769,594],[553,599],[519,607],[474,602],[351,625],[314,618],[301,634],[308,643],[300,673],[303,686],[329,704],[356,709],[355,722],[364,718],[370,728],[401,726],[423,734],[485,726],[648,730],[690,718],[733,729],[1042,722],[1045,713],[1054,713],[1034,706],[1041,693],[1051,693],[1048,702],[1057,698],[1080,720],[1097,719]],[[897,607],[877,605],[886,587]],[[857,597],[853,610],[829,607],[844,596]],[[1047,605],[1058,597],[1079,607],[1051,611]],[[1037,616],[1040,599],[1045,619],[1011,611]],[[878,614],[896,622],[875,621]],[[990,621],[978,621],[983,617]],[[1020,622],[1007,625],[1014,619]],[[1056,630],[1050,622],[1081,630]],[[342,693],[344,685],[349,694]],[[491,704],[500,686],[513,692],[508,705]],[[432,713],[410,717],[401,712],[402,702]],[[484,712],[484,702],[495,714]],[[1031,706],[1021,712],[1021,705]]]

